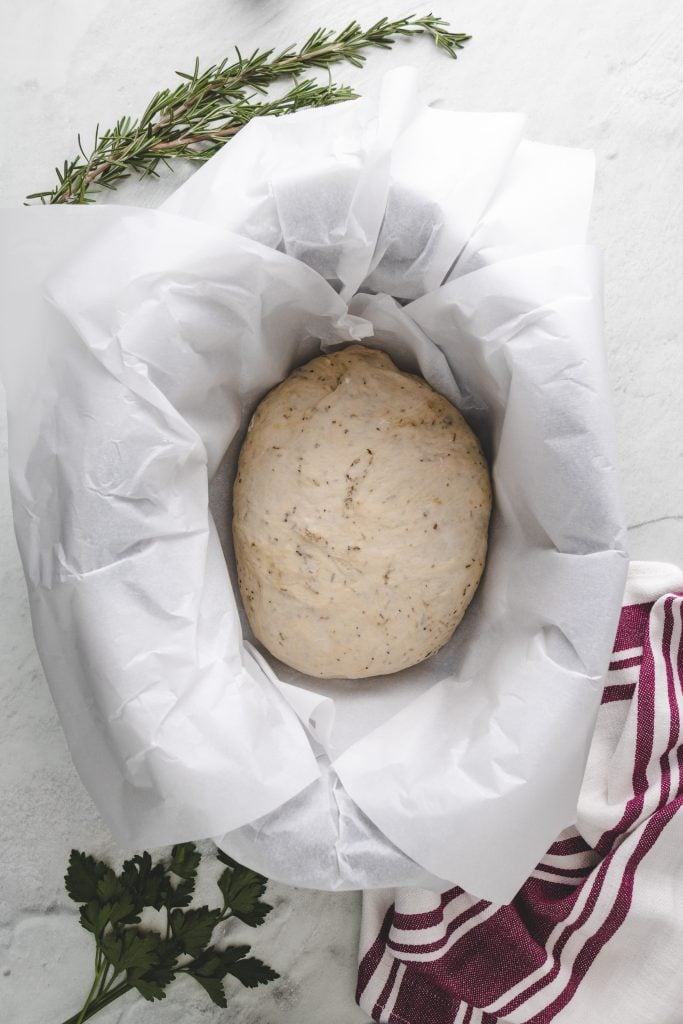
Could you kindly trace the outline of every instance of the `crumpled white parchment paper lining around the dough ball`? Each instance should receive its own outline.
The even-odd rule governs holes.
[[[413,81],[252,122],[163,211],[2,215],[14,518],[45,673],[121,842],[212,836],[296,885],[503,902],[572,820],[626,575],[599,258],[578,244],[593,165],[518,145],[516,115],[426,111]],[[456,117],[470,147],[432,190]],[[229,490],[260,397],[353,340],[461,408],[496,505],[450,644],[322,685],[245,630]]]

